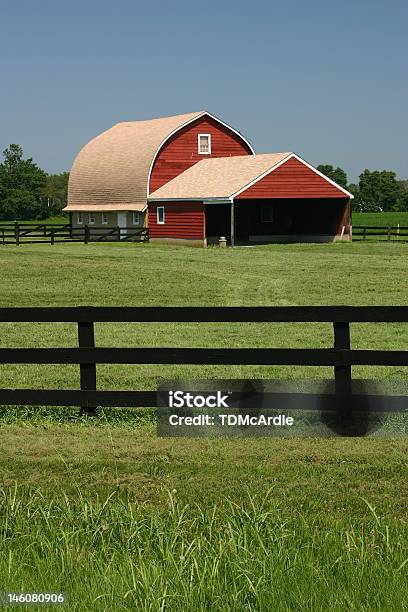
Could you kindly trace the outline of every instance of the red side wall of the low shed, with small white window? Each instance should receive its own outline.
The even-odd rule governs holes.
[[[157,223],[157,207],[164,206],[165,222]],[[202,202],[156,202],[149,204],[151,238],[205,238],[204,205]]]

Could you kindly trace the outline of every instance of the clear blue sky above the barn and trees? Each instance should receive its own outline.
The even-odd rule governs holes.
[[[0,7],[0,147],[49,172],[118,121],[207,109],[258,153],[408,178],[406,1]]]

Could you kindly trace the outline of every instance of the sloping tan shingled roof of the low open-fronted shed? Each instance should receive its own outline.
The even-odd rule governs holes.
[[[204,159],[149,196],[157,200],[229,198],[292,153]]]

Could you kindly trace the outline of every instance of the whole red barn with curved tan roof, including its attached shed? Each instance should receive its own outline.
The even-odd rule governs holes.
[[[93,139],[74,162],[66,210],[74,226],[148,224],[152,241],[194,246],[328,241],[350,237],[352,197],[294,153],[255,155],[203,111]]]

